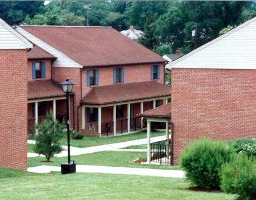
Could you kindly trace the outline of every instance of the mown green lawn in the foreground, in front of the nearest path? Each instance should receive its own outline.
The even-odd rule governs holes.
[[[222,192],[191,191],[183,179],[95,173],[22,174],[24,176],[1,179],[1,199],[234,200],[236,197]]]

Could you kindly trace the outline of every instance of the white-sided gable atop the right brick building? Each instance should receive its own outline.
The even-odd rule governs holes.
[[[256,69],[256,17],[177,60],[172,68]]]

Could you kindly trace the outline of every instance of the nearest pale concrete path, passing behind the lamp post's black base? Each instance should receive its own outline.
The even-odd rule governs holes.
[[[50,173],[51,171],[60,171],[60,167],[41,165],[38,167],[29,167],[28,171],[34,173]],[[159,176],[181,179],[185,177],[184,171],[181,170],[156,170],[150,168],[106,167],[96,165],[77,165],[77,172]]]

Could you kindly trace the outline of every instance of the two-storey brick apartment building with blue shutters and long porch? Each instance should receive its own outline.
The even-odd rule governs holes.
[[[71,126],[93,135],[143,127],[137,114],[166,104],[166,60],[111,27],[20,26],[35,48],[28,55],[28,127],[53,110],[65,117],[59,83],[74,83]]]

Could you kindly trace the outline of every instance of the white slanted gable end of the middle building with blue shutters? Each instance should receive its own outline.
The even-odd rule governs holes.
[[[49,52],[50,54],[56,57],[56,61],[53,62],[53,67],[74,67],[74,68],[83,68],[83,65],[79,64],[78,62],[72,60],[62,52],[58,51],[57,49],[53,48],[53,46],[48,45],[36,36],[32,35],[31,33],[27,32],[22,27],[17,27],[16,29],[19,33],[23,36],[28,38],[31,42],[35,45],[39,46],[40,48],[44,49],[45,51]]]

